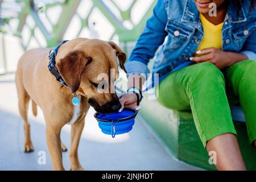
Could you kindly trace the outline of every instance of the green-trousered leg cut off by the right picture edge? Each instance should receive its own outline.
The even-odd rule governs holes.
[[[249,142],[256,147],[256,61],[246,60],[226,69],[227,91],[240,100]]]

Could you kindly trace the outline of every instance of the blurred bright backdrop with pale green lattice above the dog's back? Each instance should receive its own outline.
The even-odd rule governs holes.
[[[0,0],[0,74],[24,51],[78,37],[112,40],[128,53],[155,0]],[[15,51],[15,53],[14,53]]]

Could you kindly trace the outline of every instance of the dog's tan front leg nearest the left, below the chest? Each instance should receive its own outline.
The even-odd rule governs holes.
[[[53,170],[65,170],[62,161],[60,129],[53,126],[46,127],[46,142],[51,156]]]

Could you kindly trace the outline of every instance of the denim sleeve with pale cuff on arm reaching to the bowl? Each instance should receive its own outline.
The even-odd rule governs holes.
[[[152,16],[147,20],[146,27],[139,36],[137,44],[125,64],[127,76],[131,73],[140,75],[144,73],[145,76],[143,74],[142,76],[146,78],[147,73],[150,73],[147,64],[154,57],[156,50],[163,44],[167,36],[167,32],[164,30],[166,23],[165,3],[163,0],[158,0]]]

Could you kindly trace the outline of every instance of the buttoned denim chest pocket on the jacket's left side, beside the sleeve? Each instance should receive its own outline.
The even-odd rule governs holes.
[[[168,36],[167,46],[171,49],[177,49],[184,45],[184,43],[191,38],[193,29],[185,26],[184,23],[179,23],[174,20],[168,20],[165,29],[170,36]]]

